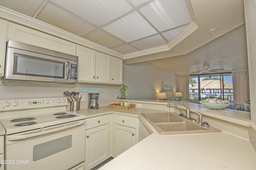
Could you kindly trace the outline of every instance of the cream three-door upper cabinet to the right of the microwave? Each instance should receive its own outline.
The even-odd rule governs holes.
[[[76,45],[78,81],[122,84],[122,59]]]

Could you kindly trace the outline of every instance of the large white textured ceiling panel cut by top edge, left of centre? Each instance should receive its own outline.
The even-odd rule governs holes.
[[[52,0],[52,2],[98,27],[134,9],[126,0]]]

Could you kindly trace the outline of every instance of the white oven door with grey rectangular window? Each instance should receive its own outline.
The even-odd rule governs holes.
[[[5,160],[8,160],[6,168],[8,170],[72,168],[85,159],[84,130],[85,124],[36,137],[6,141]]]

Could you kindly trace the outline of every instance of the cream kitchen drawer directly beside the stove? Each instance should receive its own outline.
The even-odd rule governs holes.
[[[86,129],[90,129],[90,128],[107,124],[109,122],[109,116],[102,115],[102,116],[88,118],[85,120],[86,120]]]

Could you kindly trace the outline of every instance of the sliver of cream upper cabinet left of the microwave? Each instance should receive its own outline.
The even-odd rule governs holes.
[[[7,21],[0,19],[0,77],[4,76]]]

